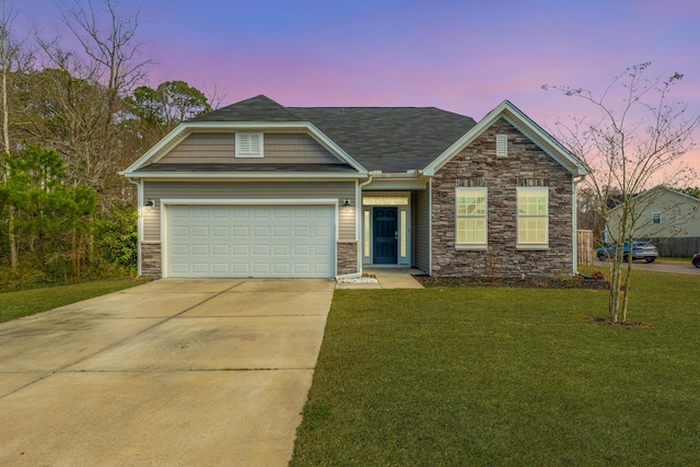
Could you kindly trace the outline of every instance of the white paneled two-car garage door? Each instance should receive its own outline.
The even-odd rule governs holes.
[[[329,278],[330,206],[171,206],[170,277]]]

